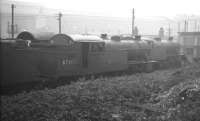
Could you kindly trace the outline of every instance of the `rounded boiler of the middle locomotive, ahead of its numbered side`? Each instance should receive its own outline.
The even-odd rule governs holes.
[[[153,46],[152,42],[143,39],[122,38],[105,40],[107,50],[125,50],[128,52],[128,61],[147,61]]]

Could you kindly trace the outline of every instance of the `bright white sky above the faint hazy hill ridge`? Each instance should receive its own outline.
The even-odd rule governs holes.
[[[53,9],[65,9],[91,15],[129,17],[132,8],[136,15],[167,16],[180,14],[199,15],[198,0],[14,0],[39,3]]]

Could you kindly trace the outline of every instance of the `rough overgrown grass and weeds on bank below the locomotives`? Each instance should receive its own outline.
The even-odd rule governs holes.
[[[200,66],[1,96],[4,121],[199,121]]]

